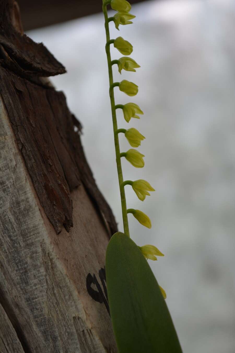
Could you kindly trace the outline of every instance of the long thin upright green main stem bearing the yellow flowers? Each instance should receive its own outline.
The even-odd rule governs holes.
[[[108,61],[108,67],[109,67],[109,86],[111,87],[113,84],[113,73],[112,73],[112,64],[111,64],[110,45],[109,44],[111,44],[111,42],[113,43],[114,40],[110,41],[109,22],[108,22],[106,3],[107,3],[107,1],[103,2],[103,12],[104,12],[104,18],[105,18],[105,32],[106,32],[106,42],[107,42],[106,46],[105,46],[105,50],[106,50],[106,54],[107,54],[107,61]],[[127,217],[127,211],[126,211],[126,197],[125,197],[124,187],[122,186],[123,175],[122,175],[122,164],[121,164],[119,140],[118,140],[118,134],[115,134],[115,131],[117,130],[117,117],[116,117],[115,99],[114,99],[113,89],[110,90],[110,102],[111,102],[111,110],[112,110],[113,134],[114,134],[114,144],[115,144],[115,152],[116,152],[118,181],[119,181],[120,196],[121,196],[121,203],[122,203],[122,218],[123,218],[124,234],[127,235],[128,237],[130,237],[128,217]]]

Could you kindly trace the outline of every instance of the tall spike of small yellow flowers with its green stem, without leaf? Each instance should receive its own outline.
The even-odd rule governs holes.
[[[116,29],[119,30],[119,25],[127,25],[132,23],[131,20],[134,19],[135,16],[129,13],[131,10],[131,5],[129,4],[128,1],[103,0],[103,7],[107,6],[108,4],[110,4],[111,8],[117,11],[117,13],[113,17],[110,17],[110,18],[106,17],[105,26],[107,26],[109,22],[113,21]],[[123,56],[122,58],[119,58],[118,60],[111,61],[110,50],[108,48],[110,44],[113,44],[113,46],[121,54],[125,56]],[[138,86],[133,82],[130,82],[124,79],[121,82],[113,83],[112,70],[110,70],[112,65],[117,64],[119,73],[122,73],[122,70],[136,72],[135,69],[139,68],[140,65],[138,65],[134,59],[128,57],[128,55],[130,55],[132,51],[133,51],[133,46],[124,38],[119,36],[116,39],[110,40],[109,34],[107,35],[106,53],[107,53],[107,59],[109,64],[109,74],[111,71],[110,100],[111,100],[111,106],[112,106],[112,115],[114,119],[113,126],[115,130],[115,147],[118,146],[118,148],[116,148],[116,159],[117,159],[118,177],[119,177],[119,185],[120,185],[120,193],[121,193],[122,209],[123,209],[124,233],[128,236],[129,236],[129,227],[128,227],[127,214],[132,214],[135,217],[135,219],[137,219],[138,222],[140,222],[143,226],[147,228],[151,228],[151,221],[149,217],[140,210],[126,209],[125,192],[124,192],[125,185],[131,185],[138,199],[140,199],[141,201],[144,201],[147,195],[150,196],[149,191],[151,192],[155,191],[153,187],[146,180],[139,179],[135,181],[131,181],[131,180],[123,181],[123,177],[122,177],[122,166],[120,163],[121,157],[125,157],[126,160],[136,168],[144,167],[144,160],[143,160],[144,155],[141,154],[139,151],[137,151],[135,148],[138,148],[138,146],[141,145],[141,141],[143,141],[145,137],[134,127],[129,128],[127,130],[123,128],[117,129],[116,113],[113,113],[113,110],[116,111],[116,109],[121,108],[123,110],[123,116],[126,122],[129,122],[131,118],[140,119],[140,116],[137,114],[143,114],[142,110],[136,103],[127,103],[124,105],[123,104],[115,105],[114,103],[113,89],[116,86],[119,87],[120,91],[124,92],[126,95],[130,97],[133,97],[138,93]],[[125,138],[128,140],[131,147],[134,147],[122,153],[119,152],[119,142],[118,142],[118,134],[121,132],[124,133]],[[124,220],[124,217],[125,217],[125,220]],[[156,256],[164,256],[154,245],[140,246],[139,249],[146,259],[151,259],[153,261],[157,260]],[[160,290],[162,292],[163,297],[166,298],[166,293],[164,289],[160,287]]]

